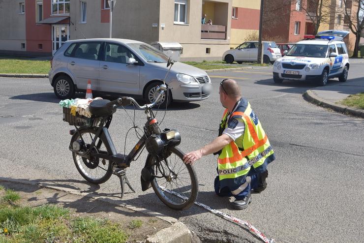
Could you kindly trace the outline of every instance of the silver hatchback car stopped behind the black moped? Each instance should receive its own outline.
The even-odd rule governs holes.
[[[164,80],[168,56],[144,42],[127,39],[82,39],[66,41],[51,61],[49,81],[61,99],[76,91],[92,91],[156,98],[156,87]],[[161,106],[172,101],[190,102],[209,98],[211,81],[199,68],[175,62],[165,79],[172,88]]]

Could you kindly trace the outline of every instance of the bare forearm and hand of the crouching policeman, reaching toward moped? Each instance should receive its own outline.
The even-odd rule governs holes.
[[[222,134],[221,136],[215,138],[211,143],[205,145],[203,148],[186,153],[183,156],[183,161],[186,164],[192,164],[193,162],[200,159],[204,155],[208,155],[210,153],[214,153],[221,150],[232,141],[233,139],[231,137],[229,137],[226,134]]]

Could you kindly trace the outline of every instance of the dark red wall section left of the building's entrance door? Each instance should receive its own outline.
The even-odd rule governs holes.
[[[52,29],[51,25],[36,24],[36,1],[26,2],[26,39],[27,52],[52,53]],[[43,0],[43,19],[49,18],[51,2]],[[42,45],[42,49],[38,45]]]

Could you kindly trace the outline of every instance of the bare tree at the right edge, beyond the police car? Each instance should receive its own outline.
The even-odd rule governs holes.
[[[355,34],[355,47],[353,58],[358,57],[360,35],[364,29],[364,0],[343,0],[344,8],[341,13],[344,16],[344,24]],[[352,11],[355,10],[355,11]]]

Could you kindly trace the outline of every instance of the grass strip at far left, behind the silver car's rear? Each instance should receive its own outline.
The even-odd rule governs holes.
[[[24,60],[22,57],[0,56],[0,73],[48,74],[50,61]]]

